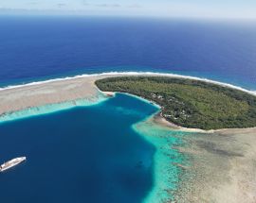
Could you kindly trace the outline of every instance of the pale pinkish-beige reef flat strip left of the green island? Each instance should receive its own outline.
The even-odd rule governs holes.
[[[28,84],[0,91],[0,115],[48,104],[91,98],[98,91],[91,78]]]

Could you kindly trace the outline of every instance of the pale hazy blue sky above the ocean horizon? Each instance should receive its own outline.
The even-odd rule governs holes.
[[[0,0],[1,13],[256,19],[256,0]]]

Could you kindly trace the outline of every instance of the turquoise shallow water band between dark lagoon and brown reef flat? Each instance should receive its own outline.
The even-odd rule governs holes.
[[[154,188],[144,199],[145,203],[168,202],[173,200],[178,187],[182,169],[178,165],[188,165],[186,156],[178,152],[175,146],[182,146],[182,138],[192,133],[170,130],[155,125],[150,119],[133,126],[145,140],[155,145]]]

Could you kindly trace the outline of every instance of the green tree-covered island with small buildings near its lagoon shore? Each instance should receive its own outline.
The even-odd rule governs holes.
[[[182,127],[256,127],[256,96],[204,81],[163,76],[119,76],[96,81],[101,91],[154,101],[162,116]]]

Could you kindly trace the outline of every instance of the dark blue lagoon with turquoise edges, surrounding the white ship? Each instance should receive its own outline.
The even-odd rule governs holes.
[[[159,109],[135,96],[18,111],[0,123],[0,160],[27,161],[0,174],[0,198],[29,202],[161,202],[179,181],[173,146],[183,132],[149,121]],[[15,195],[13,195],[15,194]]]

